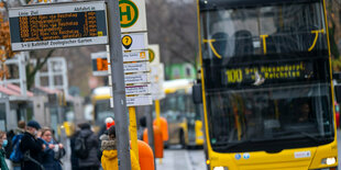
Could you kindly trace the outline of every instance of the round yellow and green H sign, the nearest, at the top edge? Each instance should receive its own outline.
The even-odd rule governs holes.
[[[121,27],[127,29],[134,25],[139,19],[136,4],[130,0],[120,0],[119,7]]]

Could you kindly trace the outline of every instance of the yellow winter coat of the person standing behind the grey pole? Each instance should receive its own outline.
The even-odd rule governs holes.
[[[118,150],[116,147],[116,140],[102,140],[101,143],[102,152],[102,168],[103,170],[118,170]],[[140,170],[139,161],[132,150],[130,150],[131,169]]]

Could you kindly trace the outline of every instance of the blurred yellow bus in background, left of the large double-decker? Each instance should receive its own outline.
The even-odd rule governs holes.
[[[194,80],[177,79],[163,83],[166,97],[161,100],[161,116],[167,120],[167,145],[183,148],[204,145],[201,115],[191,99]]]

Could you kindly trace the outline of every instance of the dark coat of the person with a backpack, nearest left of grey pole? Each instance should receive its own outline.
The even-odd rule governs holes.
[[[91,129],[85,128],[79,132],[80,137],[87,138],[86,139],[86,146],[87,149],[89,149],[89,156],[86,159],[78,158],[79,168],[84,167],[99,167],[100,161],[97,158],[97,151],[98,151],[98,138],[97,135],[95,135]]]

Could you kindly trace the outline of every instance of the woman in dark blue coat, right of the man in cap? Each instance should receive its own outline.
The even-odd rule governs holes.
[[[42,139],[44,140],[45,149],[43,156],[43,166],[45,170],[62,170],[61,158],[65,155],[63,144],[58,144],[53,139],[52,129],[48,127],[42,128]]]

